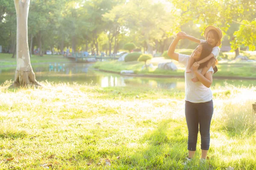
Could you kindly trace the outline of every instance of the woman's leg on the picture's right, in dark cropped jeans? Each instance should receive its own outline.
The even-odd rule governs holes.
[[[207,152],[210,146],[210,125],[213,114],[213,102],[212,100],[198,105],[198,121],[201,134],[201,158],[206,159]]]

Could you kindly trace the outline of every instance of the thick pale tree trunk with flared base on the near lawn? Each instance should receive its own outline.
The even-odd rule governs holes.
[[[30,0],[14,0],[17,17],[17,68],[13,87],[39,85],[30,64],[28,14]]]

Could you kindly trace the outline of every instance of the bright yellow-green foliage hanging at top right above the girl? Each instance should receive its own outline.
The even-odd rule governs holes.
[[[255,41],[251,38],[256,36],[255,0],[170,0],[176,8],[180,9],[181,24],[194,20],[200,24],[203,34],[204,28],[213,25],[221,28],[224,35],[232,23],[239,23],[241,26],[234,33],[231,47],[236,50],[238,46],[246,44],[250,50],[255,49]],[[249,28],[250,27],[250,28]]]

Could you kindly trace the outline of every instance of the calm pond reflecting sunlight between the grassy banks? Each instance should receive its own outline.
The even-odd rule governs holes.
[[[38,81],[65,82],[79,84],[92,84],[101,87],[117,86],[141,86],[149,88],[175,88],[184,90],[184,78],[153,78],[153,77],[127,77],[118,74],[109,74],[95,71],[91,68],[93,64],[63,64],[52,63],[50,65],[34,65],[33,70]],[[0,68],[0,84],[6,80],[14,79],[15,68]],[[255,80],[232,80],[232,79],[214,79],[212,86],[224,86],[226,83],[235,86],[250,86]]]

